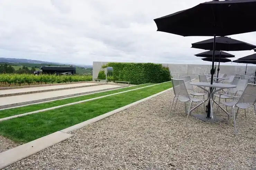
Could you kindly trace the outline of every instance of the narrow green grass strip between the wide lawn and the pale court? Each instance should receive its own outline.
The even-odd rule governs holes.
[[[77,101],[92,99],[92,98],[95,98],[95,97],[105,96],[105,95],[108,95],[108,94],[118,93],[118,92],[131,90],[131,89],[137,89],[137,88],[140,88],[140,87],[150,86],[150,85],[153,85],[153,84],[155,84],[155,83],[141,84],[139,86],[131,86],[131,87],[127,87],[127,88],[123,88],[123,89],[117,89],[117,90],[111,90],[111,91],[107,91],[107,92],[88,94],[88,95],[80,96],[80,97],[74,97],[74,98],[63,99],[63,100],[56,100],[56,101],[40,103],[40,104],[32,104],[32,105],[29,105],[29,106],[18,107],[18,108],[13,108],[13,109],[0,110],[0,118],[6,118],[6,117],[17,115],[17,114],[28,113],[28,112],[32,112],[32,111],[36,111],[36,110],[41,110],[41,109],[51,108],[51,107],[55,107],[55,106],[60,106],[60,105],[63,105],[63,104],[68,104],[68,103],[73,103],[73,102],[77,102]]]

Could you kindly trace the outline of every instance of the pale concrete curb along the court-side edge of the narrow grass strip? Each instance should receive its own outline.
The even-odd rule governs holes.
[[[148,83],[144,83],[144,84],[148,84]],[[143,85],[143,84],[138,84],[138,85],[134,85],[134,86],[141,86],[141,85]],[[128,88],[128,87],[134,87],[134,86],[123,86],[123,85],[119,85],[119,84],[118,84],[118,86],[121,86],[121,88],[116,88],[116,89],[123,89],[123,88]],[[78,95],[78,96],[71,96],[71,97],[65,97],[65,98],[61,98],[61,99],[47,100],[47,101],[42,101],[42,102],[37,102],[37,103],[30,103],[30,104],[25,104],[25,105],[20,105],[20,106],[2,108],[2,109],[0,109],[0,111],[1,110],[6,110],[6,109],[13,109],[13,108],[18,108],[18,107],[29,106],[29,105],[33,105],[33,104],[47,103],[47,102],[56,101],[56,100],[63,100],[63,99],[81,97],[81,96],[86,96],[86,95],[95,94],[95,93],[112,91],[112,90],[116,90],[116,89],[111,89],[110,88],[110,89],[104,89],[103,91],[98,91],[98,92],[93,92],[93,93],[88,93],[88,94],[82,94],[82,95]]]

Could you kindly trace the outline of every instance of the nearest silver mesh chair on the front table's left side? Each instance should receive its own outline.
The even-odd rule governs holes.
[[[175,99],[176,99],[176,101],[175,101],[174,109],[176,107],[177,100],[179,100],[181,102],[184,102],[185,103],[185,113],[188,114],[188,117],[189,117],[189,114],[191,113],[191,111],[194,110],[195,108],[199,107],[201,104],[203,104],[204,109],[206,109],[204,102],[206,100],[208,100],[208,98],[207,99],[197,99],[197,98],[193,98],[193,97],[189,96],[189,93],[188,93],[188,91],[186,89],[184,80],[179,80],[179,79],[173,79],[172,78],[172,84],[173,84],[173,91],[174,91],[174,95],[175,96],[173,98],[172,105],[171,105],[171,108],[169,110],[168,118],[170,117],[170,114],[171,114],[171,111],[172,111],[172,107],[173,107],[173,103],[174,103]],[[189,101],[190,101],[190,107],[189,107],[189,111],[188,111],[188,109],[187,109],[187,102],[189,102]],[[198,104],[193,109],[191,109],[191,106],[192,106],[193,102],[201,102],[201,103]],[[187,120],[186,120],[186,124],[188,122],[188,117],[187,117]]]

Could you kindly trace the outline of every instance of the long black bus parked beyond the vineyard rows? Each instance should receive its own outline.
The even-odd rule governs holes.
[[[34,75],[44,74],[75,74],[76,68],[73,66],[42,66]]]

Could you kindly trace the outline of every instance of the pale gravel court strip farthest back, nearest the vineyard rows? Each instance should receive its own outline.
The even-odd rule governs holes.
[[[92,84],[96,84],[96,83],[85,82],[85,83],[75,83],[75,84],[62,84],[62,85],[56,85],[56,86],[0,90],[0,94],[22,93],[22,92],[40,91],[40,90],[49,90],[49,89],[62,89],[62,88],[80,87],[80,86],[86,86],[86,85],[92,85]]]

